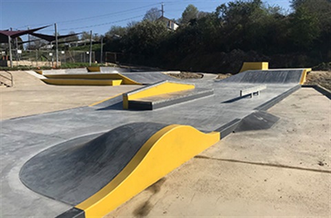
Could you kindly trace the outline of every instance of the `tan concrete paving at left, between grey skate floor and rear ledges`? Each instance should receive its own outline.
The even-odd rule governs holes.
[[[88,106],[141,86],[50,86],[23,71],[11,71],[12,88],[1,88],[1,120]]]

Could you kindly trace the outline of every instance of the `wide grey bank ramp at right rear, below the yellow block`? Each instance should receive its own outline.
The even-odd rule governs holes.
[[[226,83],[301,83],[305,70],[248,70],[223,79]]]

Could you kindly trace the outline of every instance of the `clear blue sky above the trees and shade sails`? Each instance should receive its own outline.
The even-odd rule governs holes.
[[[130,21],[141,21],[150,8],[161,10],[162,2],[165,17],[178,19],[189,4],[196,6],[199,11],[213,12],[217,6],[228,1],[0,0],[0,30],[25,30],[52,25],[39,30],[39,33],[54,34],[54,23],[57,23],[59,34],[90,30],[93,34],[105,34],[111,26],[127,26]],[[290,10],[288,0],[264,2]]]

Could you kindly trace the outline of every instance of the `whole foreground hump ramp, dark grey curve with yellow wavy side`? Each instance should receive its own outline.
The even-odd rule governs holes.
[[[19,176],[31,190],[74,206],[59,217],[103,217],[219,139],[192,126],[130,123],[53,146]]]

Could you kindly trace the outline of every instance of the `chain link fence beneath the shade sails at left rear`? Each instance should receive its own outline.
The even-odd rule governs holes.
[[[10,57],[8,51],[0,51],[2,63],[8,61]],[[13,50],[13,66],[56,66],[57,57],[55,50]],[[81,50],[59,50],[59,65],[63,63],[89,63],[90,52]],[[95,52],[92,52],[92,63],[95,62]]]

